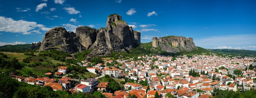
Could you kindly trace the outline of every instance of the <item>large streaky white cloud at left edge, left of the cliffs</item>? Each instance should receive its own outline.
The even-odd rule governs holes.
[[[32,32],[35,32],[33,30],[42,29],[44,27],[44,25],[37,24],[36,22],[13,20],[12,18],[5,18],[0,16],[0,31],[31,34]]]

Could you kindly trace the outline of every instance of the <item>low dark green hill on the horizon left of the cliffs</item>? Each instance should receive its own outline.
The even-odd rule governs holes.
[[[27,50],[30,50],[29,49],[30,46],[31,44],[4,45],[4,46],[0,46],[0,51],[9,51],[9,52],[27,51]]]

